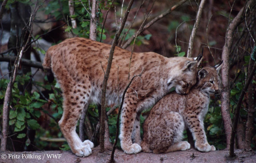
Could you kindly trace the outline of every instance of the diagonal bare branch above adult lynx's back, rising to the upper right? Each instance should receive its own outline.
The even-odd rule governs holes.
[[[187,0],[181,0],[179,3],[177,3],[176,5],[173,5],[172,8],[166,10],[164,13],[162,13],[161,15],[155,17],[154,19],[152,19],[152,21],[150,21],[149,23],[147,23],[140,32],[137,32],[137,34],[134,34],[133,36],[131,36],[130,39],[128,39],[125,44],[122,46],[123,49],[126,49],[131,42],[133,41],[133,39],[136,37],[136,35],[140,35],[143,31],[145,31],[147,28],[149,28],[150,26],[152,26],[152,24],[154,24],[155,22],[159,21],[161,18],[167,16],[169,13],[171,13],[173,10],[175,10],[176,8],[180,7],[180,5],[182,5],[183,3],[185,3]]]

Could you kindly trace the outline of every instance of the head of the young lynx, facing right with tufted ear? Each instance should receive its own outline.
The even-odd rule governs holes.
[[[197,88],[208,95],[214,94],[219,90],[219,70],[222,62],[214,67],[204,67],[198,71]]]

